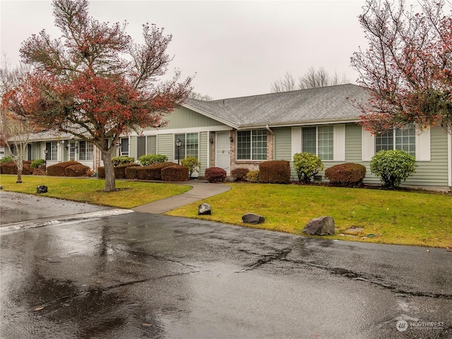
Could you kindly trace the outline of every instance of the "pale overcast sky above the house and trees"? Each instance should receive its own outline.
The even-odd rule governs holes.
[[[127,32],[141,42],[141,25],[155,23],[172,34],[169,71],[196,73],[197,93],[215,99],[270,93],[286,72],[303,75],[309,67],[345,75],[355,83],[350,57],[367,47],[357,16],[361,1],[90,1],[100,21],[129,23]],[[0,47],[15,66],[20,44],[54,28],[51,1],[0,3]]]

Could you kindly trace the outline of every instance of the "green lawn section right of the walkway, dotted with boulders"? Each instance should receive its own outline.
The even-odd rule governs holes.
[[[452,198],[439,194],[328,186],[230,184],[232,189],[203,200],[212,215],[197,215],[198,203],[165,213],[266,230],[302,234],[312,218],[330,215],[336,233],[326,239],[452,247]],[[244,225],[245,213],[263,215],[261,225]],[[352,236],[350,227],[364,230]],[[343,234],[343,235],[339,235]],[[374,237],[367,237],[374,234]]]

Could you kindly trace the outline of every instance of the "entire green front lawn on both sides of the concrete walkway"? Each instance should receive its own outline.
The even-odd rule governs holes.
[[[36,194],[36,187],[49,187],[52,196],[104,206],[133,208],[190,189],[186,185],[117,181],[118,191],[102,192],[102,179],[0,176],[6,191]],[[381,244],[452,247],[452,197],[407,191],[345,189],[328,186],[280,184],[228,184],[230,191],[203,199],[212,206],[212,215],[198,215],[200,201],[171,210],[167,215],[225,222],[265,230],[302,234],[312,218],[330,215],[336,232],[323,239],[340,239]],[[266,217],[261,225],[245,225],[242,215],[256,213]],[[362,227],[357,235],[350,227]],[[340,235],[343,234],[343,235]],[[367,237],[374,234],[374,237]]]

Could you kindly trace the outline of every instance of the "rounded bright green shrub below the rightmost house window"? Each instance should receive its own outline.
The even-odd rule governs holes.
[[[416,159],[405,150],[380,150],[371,159],[370,172],[380,177],[388,189],[400,186],[400,182],[416,172]]]

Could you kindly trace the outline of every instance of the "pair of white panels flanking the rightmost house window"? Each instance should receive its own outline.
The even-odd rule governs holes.
[[[430,128],[416,129],[416,161],[431,161]],[[370,161],[375,155],[375,136],[362,127],[362,161]]]

